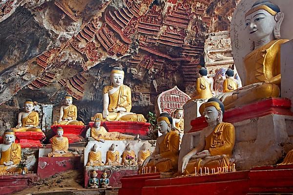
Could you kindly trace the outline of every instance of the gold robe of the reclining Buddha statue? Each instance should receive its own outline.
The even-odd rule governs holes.
[[[95,127],[90,128],[90,137],[93,137],[95,140],[100,141],[104,140],[134,140],[134,136],[124,135],[119,132],[107,132],[105,127],[100,127],[100,130],[96,130]]]

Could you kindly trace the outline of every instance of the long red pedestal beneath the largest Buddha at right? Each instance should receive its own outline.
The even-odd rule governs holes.
[[[290,99],[270,98],[227,110],[225,111],[223,121],[233,123],[270,114],[293,116],[290,108]],[[192,128],[188,133],[200,131],[207,127],[208,123],[205,117],[197,117],[191,120],[190,125]]]

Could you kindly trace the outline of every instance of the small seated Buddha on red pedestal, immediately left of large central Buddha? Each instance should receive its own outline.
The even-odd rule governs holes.
[[[54,125],[84,125],[82,121],[76,120],[77,107],[72,104],[72,96],[65,96],[65,106],[61,106],[58,121]]]

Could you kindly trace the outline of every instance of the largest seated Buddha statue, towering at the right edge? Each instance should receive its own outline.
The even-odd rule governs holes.
[[[246,69],[244,87],[217,95],[225,109],[280,96],[280,38],[284,13],[270,1],[256,1],[245,14],[246,32],[253,49],[243,60]],[[237,64],[236,64],[237,65]]]

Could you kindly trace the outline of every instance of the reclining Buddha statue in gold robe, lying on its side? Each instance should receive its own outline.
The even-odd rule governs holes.
[[[105,140],[135,140],[139,138],[139,135],[130,136],[119,132],[107,132],[105,127],[101,126],[101,120],[96,118],[94,126],[90,128],[90,137],[104,143]]]

